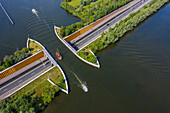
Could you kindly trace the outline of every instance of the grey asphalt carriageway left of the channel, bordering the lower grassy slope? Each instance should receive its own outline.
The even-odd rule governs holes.
[[[40,72],[44,71],[45,69],[48,69],[51,67],[51,62],[45,62],[42,65],[38,66],[34,70],[31,70],[27,74],[23,75],[22,77],[18,78],[17,80],[14,80],[9,85],[6,85],[0,89],[0,97],[5,95],[6,93],[12,93],[16,90],[16,88],[20,88],[22,85],[24,85],[28,80],[31,80],[31,78],[36,77],[39,75]],[[13,89],[15,89],[13,91]]]

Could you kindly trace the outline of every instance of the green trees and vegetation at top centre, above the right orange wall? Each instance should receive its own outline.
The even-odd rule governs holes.
[[[61,26],[60,36],[68,36],[131,1],[133,0],[80,0],[80,5],[73,6],[69,4],[71,1],[65,0],[60,6],[74,16],[81,18],[81,22],[67,27]]]

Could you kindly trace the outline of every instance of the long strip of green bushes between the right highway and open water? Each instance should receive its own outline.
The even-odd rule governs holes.
[[[121,20],[114,28],[102,33],[101,37],[88,45],[85,49],[91,49],[94,53],[107,47],[109,44],[116,42],[125,33],[131,31],[140,22],[144,21],[148,16],[157,12],[169,0],[153,0],[149,5],[145,5],[141,10],[130,14],[127,18]]]

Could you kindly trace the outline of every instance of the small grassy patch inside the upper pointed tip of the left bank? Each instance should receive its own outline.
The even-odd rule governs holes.
[[[41,45],[39,45],[38,43],[34,42],[34,41],[29,41],[29,47],[32,48],[31,53],[35,54],[37,53],[39,50],[42,50],[43,47]]]

